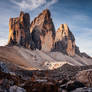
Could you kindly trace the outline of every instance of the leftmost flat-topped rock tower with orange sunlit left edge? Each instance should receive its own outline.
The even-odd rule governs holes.
[[[19,17],[10,18],[8,45],[30,47],[30,16],[28,13],[21,12]]]

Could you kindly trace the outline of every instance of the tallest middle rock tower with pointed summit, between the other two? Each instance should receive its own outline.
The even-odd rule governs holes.
[[[30,32],[35,48],[51,51],[54,46],[55,28],[48,9],[44,10],[34,21],[32,21]]]

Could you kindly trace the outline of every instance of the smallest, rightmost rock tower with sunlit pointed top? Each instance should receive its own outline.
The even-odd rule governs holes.
[[[61,51],[69,56],[75,55],[75,38],[67,24],[61,24],[56,32],[55,50]]]

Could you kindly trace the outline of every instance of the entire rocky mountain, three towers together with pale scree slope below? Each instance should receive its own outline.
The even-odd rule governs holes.
[[[15,45],[19,46],[20,49]],[[90,65],[92,61],[90,56],[80,52],[75,43],[75,37],[67,24],[61,24],[55,31],[51,13],[48,9],[40,13],[31,24],[28,13],[20,12],[19,17],[10,18],[8,46],[11,47],[1,48],[7,52],[12,49],[10,50],[12,55],[11,53],[8,53],[8,55],[17,57],[17,59],[12,60],[9,56],[7,57],[1,49],[1,53],[6,57],[5,59],[16,63],[19,61],[19,65],[22,61],[22,64],[29,66],[29,68],[33,66],[32,69],[54,69],[65,63]],[[21,46],[31,48],[33,51],[31,49],[28,49],[29,51],[21,49]],[[38,52],[39,55],[36,55]],[[1,58],[4,58],[3,55],[1,54]]]

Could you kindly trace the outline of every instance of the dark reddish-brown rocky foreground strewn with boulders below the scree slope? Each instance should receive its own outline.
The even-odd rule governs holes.
[[[65,64],[55,70],[12,69],[0,63],[0,92],[91,92],[92,65]],[[12,66],[16,66],[13,65]]]

